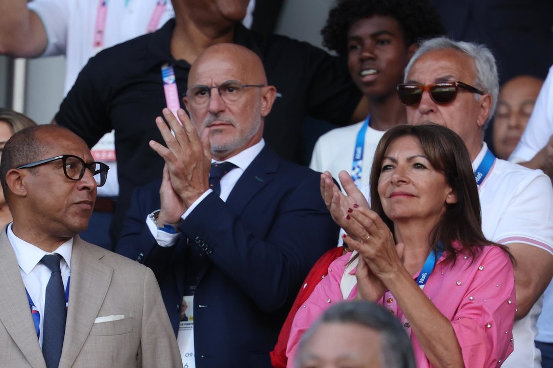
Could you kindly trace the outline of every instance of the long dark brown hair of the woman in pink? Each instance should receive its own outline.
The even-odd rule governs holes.
[[[444,216],[432,230],[429,239],[432,249],[436,250],[438,242],[442,242],[448,255],[447,262],[454,264],[458,252],[467,254],[474,260],[482,247],[492,242],[482,233],[480,199],[471,158],[461,137],[451,129],[434,124],[400,125],[384,133],[374,153],[371,169],[371,209],[393,233],[394,223],[384,213],[378,195],[378,180],[386,150],[393,141],[405,136],[418,139],[432,166],[444,173],[448,185],[457,195],[457,202],[446,205]],[[460,243],[460,249],[453,247],[452,243],[455,241]],[[505,250],[505,247],[500,247]]]

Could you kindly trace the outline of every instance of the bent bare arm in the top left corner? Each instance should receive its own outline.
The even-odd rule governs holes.
[[[48,42],[42,20],[25,0],[0,0],[0,54],[19,58],[40,56]]]

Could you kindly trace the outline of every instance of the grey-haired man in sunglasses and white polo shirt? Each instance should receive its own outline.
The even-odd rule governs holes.
[[[409,124],[446,126],[467,146],[483,233],[507,246],[517,261],[514,352],[503,367],[539,367],[535,323],[541,310],[538,299],[553,274],[553,191],[544,173],[495,158],[482,141],[498,91],[492,53],[485,46],[447,38],[422,43],[405,69],[405,84],[398,85]]]

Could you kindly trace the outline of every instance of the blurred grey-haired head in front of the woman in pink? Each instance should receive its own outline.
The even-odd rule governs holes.
[[[296,368],[415,368],[409,336],[387,310],[354,301],[333,305],[302,336]]]

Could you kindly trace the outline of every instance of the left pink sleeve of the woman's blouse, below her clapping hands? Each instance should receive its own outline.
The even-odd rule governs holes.
[[[314,323],[326,309],[330,308],[333,303],[343,301],[342,292],[340,290],[340,280],[342,279],[342,274],[346,269],[350,256],[351,253],[346,253],[328,266],[327,276],[317,284],[306,302],[298,309],[294,317],[294,322],[292,323],[288,345],[286,346],[286,356],[288,356],[288,364],[286,367],[294,367],[294,359],[299,341],[311,324]]]

